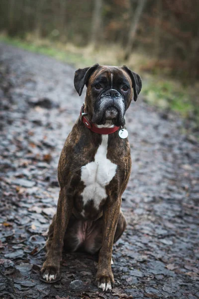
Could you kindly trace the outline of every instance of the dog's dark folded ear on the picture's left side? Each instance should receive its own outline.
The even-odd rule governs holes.
[[[96,63],[91,67],[85,67],[84,69],[78,69],[75,72],[74,85],[75,85],[75,89],[79,93],[79,96],[81,96],[85,84],[87,85],[89,78],[91,77],[93,72],[98,67],[99,67],[99,64]]]

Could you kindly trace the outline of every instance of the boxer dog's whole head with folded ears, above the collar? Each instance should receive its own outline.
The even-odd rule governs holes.
[[[125,112],[132,98],[137,100],[142,88],[141,78],[127,66],[101,66],[78,69],[74,78],[75,89],[81,96],[87,86],[85,109],[89,119],[97,124],[111,121],[124,126]]]

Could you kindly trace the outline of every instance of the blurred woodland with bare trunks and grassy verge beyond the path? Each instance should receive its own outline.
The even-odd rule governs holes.
[[[152,104],[199,123],[199,0],[0,0],[0,39],[77,67],[127,64]]]

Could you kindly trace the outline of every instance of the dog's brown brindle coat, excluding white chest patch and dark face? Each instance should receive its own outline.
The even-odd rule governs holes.
[[[88,86],[85,108],[88,112],[88,119],[90,120],[93,118],[96,101],[92,85],[96,78],[102,73],[104,75],[104,70],[107,80],[110,78],[110,72],[113,72],[115,76],[123,74],[131,86],[133,81],[131,78],[132,74],[129,73],[131,71],[126,67],[113,68],[97,65],[97,67],[93,66],[92,68],[87,81],[81,83],[83,87],[84,84]],[[90,69],[87,68],[87,70]],[[83,70],[78,71],[82,72]],[[79,76],[79,73],[76,73],[77,76]],[[82,74],[80,77],[82,78]],[[77,80],[79,79],[76,78]],[[83,88],[82,86],[80,87]],[[79,90],[79,86],[76,89]],[[79,93],[81,94],[81,92]],[[125,98],[126,109],[130,105],[132,96],[131,88],[128,96]],[[81,181],[81,167],[95,160],[95,154],[100,144],[101,135],[93,133],[86,128],[79,117],[65,142],[59,159],[59,200],[56,215],[53,217],[49,228],[48,240],[46,242],[46,261],[43,264],[42,273],[59,275],[63,246],[73,251],[76,248],[77,240],[75,233],[80,220],[93,221],[92,225],[94,230],[96,230],[96,237],[93,240],[95,246],[92,251],[84,246],[82,249],[91,253],[99,252],[96,278],[98,286],[100,284],[113,286],[114,279],[111,271],[112,245],[120,238],[126,227],[126,220],[120,210],[120,205],[121,195],[126,188],[131,170],[130,146],[128,139],[121,139],[118,136],[118,132],[108,136],[106,157],[117,165],[116,173],[110,183],[105,187],[107,198],[101,201],[99,210],[94,208],[91,200],[87,203],[86,207],[84,206],[85,217],[83,217],[81,215],[83,211],[81,193],[85,185]]]

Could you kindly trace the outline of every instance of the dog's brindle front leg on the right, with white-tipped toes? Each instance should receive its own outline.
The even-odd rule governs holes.
[[[109,198],[107,198],[108,200]],[[102,291],[111,290],[114,278],[111,270],[112,246],[119,218],[121,198],[109,201],[103,209],[103,236],[99,253],[96,283]]]

